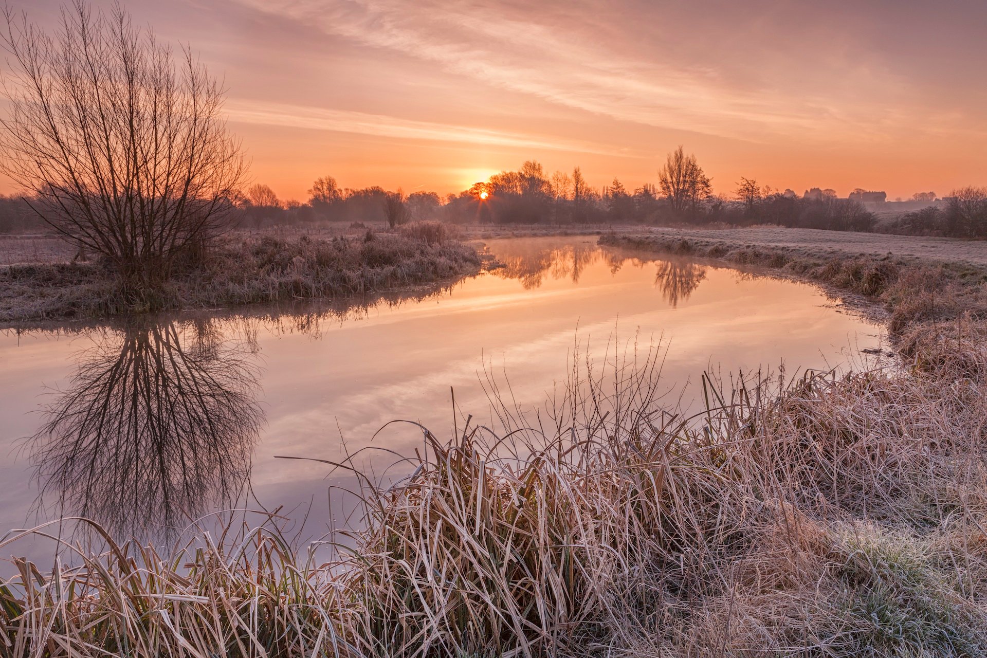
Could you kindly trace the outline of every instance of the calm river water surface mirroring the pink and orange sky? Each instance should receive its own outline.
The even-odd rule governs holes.
[[[669,404],[689,404],[690,383],[711,364],[784,362],[792,374],[844,365],[880,342],[879,329],[809,285],[595,238],[488,246],[504,267],[369,309],[0,333],[0,528],[83,515],[148,539],[246,507],[277,509],[307,541],[342,523],[352,498],[334,487],[352,480],[277,456],[338,461],[368,445],[409,454],[421,431],[388,421],[448,436],[454,390],[460,418],[492,422],[488,376],[509,380],[521,407],[542,405],[576,345],[602,359],[615,336],[660,341]],[[395,458],[360,459],[381,475]]]

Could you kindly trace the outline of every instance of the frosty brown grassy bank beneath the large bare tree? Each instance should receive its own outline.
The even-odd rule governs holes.
[[[99,263],[2,268],[0,322],[357,296],[479,269],[474,249],[418,227],[358,237],[238,235],[210,248],[154,291],[122,288]]]

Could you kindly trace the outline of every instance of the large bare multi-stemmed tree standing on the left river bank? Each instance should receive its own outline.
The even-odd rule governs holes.
[[[223,89],[190,49],[176,62],[119,7],[76,0],[53,34],[4,17],[0,167],[55,231],[106,256],[128,287],[153,288],[234,212],[245,165]]]

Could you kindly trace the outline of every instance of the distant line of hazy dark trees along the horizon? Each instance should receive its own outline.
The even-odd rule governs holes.
[[[856,190],[861,191],[861,190]],[[586,183],[579,168],[547,175],[529,161],[513,172],[445,197],[435,192],[404,194],[380,186],[341,188],[332,177],[318,179],[306,202],[282,201],[266,184],[254,184],[231,198],[241,208],[244,228],[279,224],[345,222],[392,228],[417,220],[450,224],[772,224],[833,231],[876,231],[900,235],[987,238],[987,187],[963,187],[935,201],[934,192],[913,200],[928,207],[883,221],[857,198],[837,198],[832,189],[813,187],[801,196],[741,178],[731,194],[714,194],[695,156],[681,147],[658,171],[657,183],[629,189],[614,179],[602,188]],[[857,197],[862,197],[857,194]],[[42,230],[44,223],[20,197],[0,196],[0,233]]]

